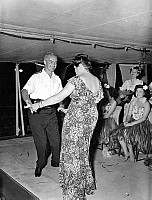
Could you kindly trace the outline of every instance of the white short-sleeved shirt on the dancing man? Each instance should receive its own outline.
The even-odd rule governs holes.
[[[53,72],[50,78],[43,69],[42,72],[33,74],[23,89],[28,91],[31,99],[45,100],[59,93],[63,88],[59,76]]]

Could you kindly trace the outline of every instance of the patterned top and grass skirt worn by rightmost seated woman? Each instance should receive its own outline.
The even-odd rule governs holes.
[[[146,98],[136,104],[137,98],[134,97],[133,107],[132,107],[132,116],[131,121],[138,120],[142,118],[144,113],[144,103]],[[151,126],[152,124],[148,120],[148,117],[145,121],[135,124],[133,126],[124,127],[121,124],[118,128],[113,130],[110,135],[110,144],[111,148],[115,148],[116,140],[125,140],[127,145],[132,144],[133,147],[137,148],[137,151],[141,151],[145,154],[150,152],[151,148]]]

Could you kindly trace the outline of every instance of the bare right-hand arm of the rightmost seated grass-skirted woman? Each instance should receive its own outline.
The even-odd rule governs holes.
[[[135,120],[133,122],[130,122],[126,126],[133,126],[135,124],[139,124],[139,123],[145,121],[147,119],[148,115],[149,115],[149,112],[150,112],[150,104],[149,104],[148,101],[146,101],[145,104],[144,104],[144,113],[143,113],[142,118]]]

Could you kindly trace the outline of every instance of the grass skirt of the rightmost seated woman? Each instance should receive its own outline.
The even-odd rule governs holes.
[[[151,151],[151,130],[152,124],[149,120],[129,127],[124,127],[122,123],[110,133],[110,148],[118,148],[118,140],[124,140],[127,145],[132,144],[133,148],[136,147],[138,152],[141,151],[144,154],[148,154]]]

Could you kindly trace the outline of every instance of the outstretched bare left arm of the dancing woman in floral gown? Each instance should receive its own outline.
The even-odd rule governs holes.
[[[63,101],[67,96],[69,96],[73,92],[74,88],[75,86],[70,82],[68,82],[66,86],[58,94],[49,97],[48,99],[41,101],[39,103],[32,104],[33,111]]]

